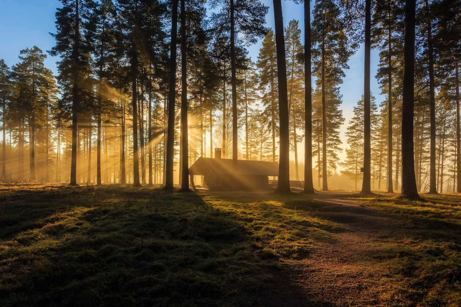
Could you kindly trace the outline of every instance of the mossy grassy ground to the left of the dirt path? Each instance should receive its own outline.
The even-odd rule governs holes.
[[[256,304],[285,260],[332,240],[301,194],[0,186],[1,306]]]

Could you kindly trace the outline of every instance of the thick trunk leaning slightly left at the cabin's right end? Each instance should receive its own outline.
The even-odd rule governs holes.
[[[277,49],[278,111],[279,111],[279,168],[278,193],[290,192],[290,128],[288,119],[287,68],[285,60],[284,22],[281,0],[273,0],[275,44]]]

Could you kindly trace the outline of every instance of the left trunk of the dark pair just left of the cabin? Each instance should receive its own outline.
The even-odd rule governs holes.
[[[175,134],[175,98],[176,98],[176,40],[177,40],[177,1],[172,0],[171,45],[170,45],[170,84],[168,99],[168,133],[166,136],[165,190],[173,190],[173,160]]]

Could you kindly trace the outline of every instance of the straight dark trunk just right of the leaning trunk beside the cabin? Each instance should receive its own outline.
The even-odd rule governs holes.
[[[313,193],[312,178],[312,68],[311,68],[311,9],[310,1],[304,1],[304,192]]]

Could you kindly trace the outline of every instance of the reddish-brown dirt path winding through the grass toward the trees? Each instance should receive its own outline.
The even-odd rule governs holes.
[[[344,192],[317,192],[315,198],[327,203],[318,211],[344,231],[335,235],[335,242],[322,243],[293,261],[288,274],[276,277],[270,299],[261,305],[379,306],[377,289],[385,269],[373,256],[379,254],[377,237],[386,230],[388,219],[344,197]]]

